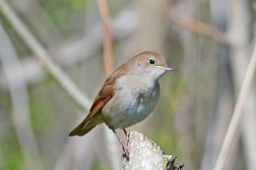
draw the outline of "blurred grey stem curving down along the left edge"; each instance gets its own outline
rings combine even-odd
[[[43,170],[38,144],[32,131],[29,94],[23,69],[12,42],[1,24],[0,61],[11,94],[12,122],[25,158],[26,169]]]

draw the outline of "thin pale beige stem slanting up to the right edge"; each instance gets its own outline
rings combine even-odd
[[[232,114],[232,118],[230,120],[230,123],[228,125],[228,129],[226,131],[226,135],[224,138],[224,143],[221,148],[220,154],[218,156],[218,160],[215,166],[215,170],[223,170],[224,169],[224,162],[228,156],[228,152],[230,149],[230,145],[233,141],[235,132],[238,129],[239,126],[239,120],[242,116],[242,107],[244,105],[244,102],[246,100],[246,97],[248,96],[250,85],[253,81],[254,74],[255,74],[255,68],[256,68],[256,43],[255,47],[252,53],[252,57],[249,62],[248,69],[246,71],[246,75],[241,87],[241,90],[239,92],[237,102],[234,107],[234,111]]]

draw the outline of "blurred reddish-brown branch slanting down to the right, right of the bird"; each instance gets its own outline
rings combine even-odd
[[[185,19],[175,14],[171,9],[168,12],[169,19],[182,28],[188,28],[198,34],[210,37],[215,41],[229,46],[230,48],[235,48],[235,44],[224,34],[224,32],[218,30],[217,28],[210,27],[204,23]]]

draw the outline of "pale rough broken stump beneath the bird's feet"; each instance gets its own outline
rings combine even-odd
[[[130,132],[128,134],[129,160],[122,158],[122,169],[167,169],[180,170],[184,165],[174,164],[176,157],[166,155],[156,142],[153,142],[143,134]]]

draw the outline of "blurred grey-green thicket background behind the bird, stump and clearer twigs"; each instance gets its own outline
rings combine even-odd
[[[83,138],[68,137],[88,110],[47,73],[31,50],[35,43],[25,43],[3,13],[5,2],[92,102],[105,79],[96,1],[0,2],[0,170],[120,169],[121,146],[103,124]],[[214,169],[253,50],[256,1],[107,0],[107,6],[114,68],[146,50],[175,68],[160,80],[154,112],[127,130],[178,155],[184,169]],[[256,167],[255,94],[254,80],[225,170]]]

